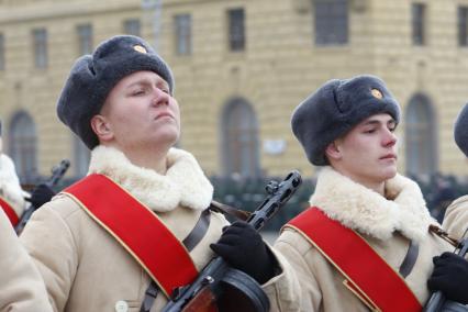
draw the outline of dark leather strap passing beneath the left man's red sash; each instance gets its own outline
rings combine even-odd
[[[189,252],[191,252],[198,245],[198,243],[200,243],[204,234],[207,234],[208,227],[210,226],[210,210],[203,210],[192,231],[190,231],[189,235],[187,235],[187,237],[182,241],[182,244]],[[143,299],[142,307],[140,308],[140,312],[149,312],[158,292],[159,288],[157,287],[156,282],[152,280],[145,291],[145,297]]]

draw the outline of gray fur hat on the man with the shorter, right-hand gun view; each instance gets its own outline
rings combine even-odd
[[[330,143],[363,120],[383,112],[400,122],[400,105],[380,78],[363,75],[333,79],[296,108],[291,126],[309,161],[325,166]]]

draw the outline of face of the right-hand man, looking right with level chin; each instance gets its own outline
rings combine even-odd
[[[332,165],[363,185],[381,183],[397,174],[395,122],[387,113],[372,115],[334,142]]]

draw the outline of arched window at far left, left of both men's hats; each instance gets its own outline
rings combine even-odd
[[[34,121],[26,112],[16,113],[9,131],[10,156],[22,182],[37,175],[37,135]]]

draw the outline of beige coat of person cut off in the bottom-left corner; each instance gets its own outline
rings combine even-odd
[[[0,209],[0,311],[52,311],[44,281]]]

